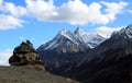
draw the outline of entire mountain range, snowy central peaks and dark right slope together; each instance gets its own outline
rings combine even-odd
[[[99,33],[63,29],[37,48],[47,71],[82,83],[131,83],[132,24],[110,38]]]

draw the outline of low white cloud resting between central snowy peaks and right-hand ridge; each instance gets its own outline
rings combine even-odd
[[[113,32],[120,31],[122,27],[107,27],[107,26],[101,26],[96,28],[95,31],[103,36],[105,38],[109,38]]]

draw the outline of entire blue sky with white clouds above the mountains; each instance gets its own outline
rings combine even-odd
[[[0,51],[30,39],[35,48],[59,31],[132,23],[131,0],[0,0]]]

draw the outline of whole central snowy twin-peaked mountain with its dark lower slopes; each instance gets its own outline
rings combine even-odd
[[[79,54],[91,50],[105,40],[97,32],[88,34],[79,27],[74,33],[63,29],[51,42],[40,46],[37,52],[48,70],[63,66],[66,71],[76,66],[76,60],[82,57]]]

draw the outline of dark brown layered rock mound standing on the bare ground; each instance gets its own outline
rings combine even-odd
[[[20,46],[14,48],[9,63],[11,66],[42,64],[36,50],[29,40],[22,42]]]

